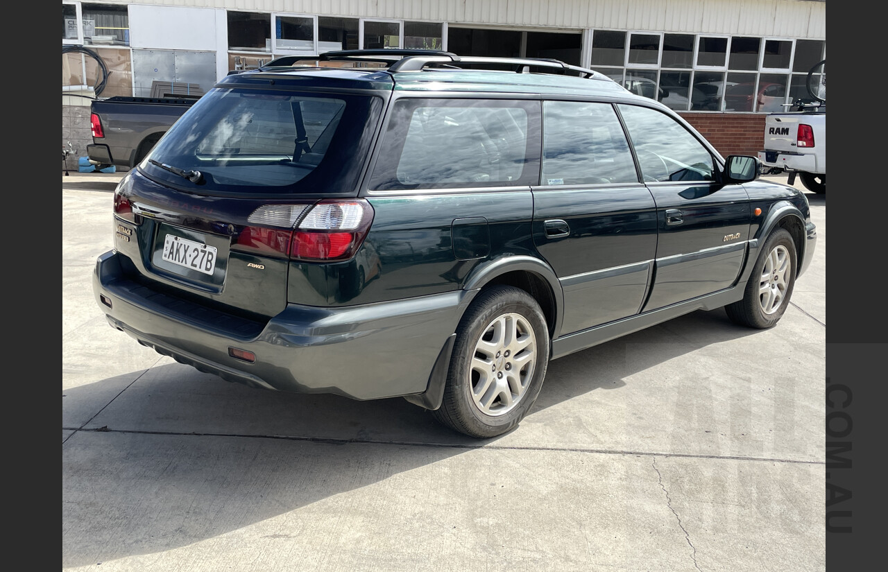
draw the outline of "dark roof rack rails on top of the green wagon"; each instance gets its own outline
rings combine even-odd
[[[260,70],[268,70],[272,67],[290,67],[297,61],[370,61],[388,64],[388,71],[394,72],[419,72],[443,70],[479,70],[493,69],[495,66],[511,67],[516,74],[530,74],[531,70],[540,70],[543,73],[557,72],[567,74],[574,72],[580,77],[604,79],[607,76],[588,69],[586,67],[572,66],[559,59],[549,58],[491,58],[485,56],[457,56],[450,51],[417,50],[417,49],[393,49],[378,50],[339,50],[327,51],[320,56],[282,56],[273,59]],[[470,67],[462,67],[468,65]],[[485,67],[488,66],[488,67]],[[505,70],[508,71],[508,70]]]

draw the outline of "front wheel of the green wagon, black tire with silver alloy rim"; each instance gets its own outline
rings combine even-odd
[[[758,329],[777,325],[789,306],[796,285],[796,243],[786,229],[775,229],[765,240],[743,298],[725,306],[735,324]]]

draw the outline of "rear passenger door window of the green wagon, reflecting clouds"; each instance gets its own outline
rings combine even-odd
[[[635,162],[614,107],[543,104],[542,184],[638,183]]]

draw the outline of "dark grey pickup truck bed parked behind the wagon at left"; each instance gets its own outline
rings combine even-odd
[[[96,168],[133,168],[198,98],[96,99],[91,103],[92,144],[86,145]]]

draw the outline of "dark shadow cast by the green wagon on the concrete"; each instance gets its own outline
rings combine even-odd
[[[696,311],[559,358],[526,421],[599,388],[619,390],[624,378],[653,364],[756,332],[733,325],[724,310]],[[630,344],[645,344],[645,358],[633,352],[627,360]],[[582,375],[573,373],[578,368]],[[69,388],[63,565],[192,545],[346,491],[408,479],[413,469],[498,441],[457,435],[400,398],[284,394],[174,363]],[[485,475],[479,486],[496,479]],[[400,490],[412,486],[428,494],[422,482]],[[69,542],[67,529],[89,529],[90,543],[82,535]]]

